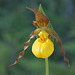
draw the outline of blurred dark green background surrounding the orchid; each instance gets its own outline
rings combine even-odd
[[[50,75],[75,75],[75,0],[0,0],[0,75],[45,75],[44,59],[36,58],[31,52],[36,38],[31,40],[24,57],[8,67],[36,29],[32,24],[35,15],[26,6],[38,9],[40,3],[62,40],[72,69],[68,70],[55,42],[55,51],[49,57]]]

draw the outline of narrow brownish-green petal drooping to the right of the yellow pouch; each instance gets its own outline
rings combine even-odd
[[[53,38],[56,39],[56,42],[57,42],[57,43],[60,45],[60,47],[61,47],[61,55],[64,56],[64,61],[68,64],[68,69],[71,70],[71,69],[70,69],[69,60],[68,60],[68,58],[65,57],[65,49],[64,49],[63,46],[62,46],[62,42],[61,42],[61,39],[59,38],[58,34],[57,34],[54,30],[52,30],[52,29],[50,29],[50,28],[45,28],[45,31],[46,31],[48,34],[50,34],[50,36],[52,36]]]

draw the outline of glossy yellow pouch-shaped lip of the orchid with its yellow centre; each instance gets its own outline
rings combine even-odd
[[[54,51],[53,42],[48,38],[48,33],[42,30],[32,46],[32,53],[38,58],[48,58]]]

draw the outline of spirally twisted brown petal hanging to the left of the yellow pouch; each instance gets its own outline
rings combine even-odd
[[[38,35],[41,30],[42,30],[41,28],[38,28],[38,29],[36,29],[35,31],[33,31],[33,32],[30,34],[29,40],[24,43],[24,50],[19,53],[19,57],[18,57],[18,58],[15,60],[15,62],[14,62],[13,64],[11,64],[9,67],[11,67],[11,66],[13,66],[13,65],[15,65],[15,64],[18,63],[19,59],[23,57],[23,55],[24,55],[24,53],[25,53],[25,50],[28,48],[28,46],[29,46],[29,44],[30,44],[30,40],[31,40],[32,38],[34,38],[36,35]]]

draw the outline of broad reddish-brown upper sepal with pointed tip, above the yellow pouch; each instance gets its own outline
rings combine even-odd
[[[48,26],[49,20],[48,20],[47,16],[45,16],[44,14],[42,14],[37,9],[32,9],[32,8],[28,8],[28,9],[32,10],[35,13],[36,21],[33,21],[33,24],[35,26],[37,26],[37,27],[47,27]]]

